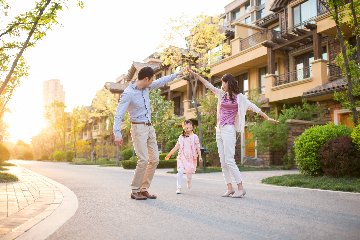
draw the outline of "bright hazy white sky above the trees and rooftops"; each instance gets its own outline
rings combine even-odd
[[[15,2],[15,1],[14,1]],[[21,11],[34,1],[16,0]],[[75,2],[75,1],[74,1]],[[44,40],[25,53],[30,74],[9,102],[9,141],[28,143],[46,125],[43,81],[60,79],[67,111],[88,106],[105,82],[127,73],[133,61],[143,61],[164,43],[170,19],[200,14],[218,15],[231,0],[84,0],[59,16]]]

